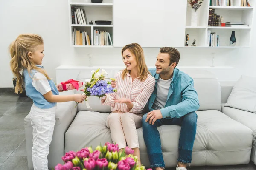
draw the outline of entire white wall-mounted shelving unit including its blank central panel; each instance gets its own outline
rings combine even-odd
[[[176,48],[248,48],[250,47],[250,41],[252,40],[251,31],[253,25],[253,13],[255,11],[256,0],[249,0],[251,6],[241,6],[241,0],[229,0],[233,2],[233,6],[212,6],[210,4],[214,0],[204,0],[200,8],[198,9],[198,24],[197,26],[191,26],[191,8],[187,2],[179,3],[178,11],[169,10],[168,14],[164,13],[167,18],[163,18],[163,14],[157,11],[164,4],[164,0],[156,4],[152,3],[153,0],[146,1],[142,0],[138,2],[136,0],[125,0],[125,1],[114,1],[114,0],[103,0],[102,3],[91,3],[91,0],[69,0],[69,23],[70,23],[70,45],[74,48],[113,48],[122,47],[131,42],[138,42],[142,47],[162,47],[162,46],[173,46]],[[219,0],[225,1],[225,0]],[[152,11],[151,13],[141,13],[141,6],[148,3],[147,8],[144,10]],[[137,6],[134,6],[137,4]],[[85,11],[87,18],[86,24],[73,24],[71,7],[80,8]],[[131,13],[131,8],[134,12]],[[209,20],[209,9],[214,9],[214,13],[224,18],[226,22],[244,22],[244,26],[236,27],[221,27],[221,26],[208,26]],[[137,12],[136,12],[137,11]],[[184,11],[184,12],[182,12]],[[180,23],[168,25],[169,16],[179,13],[178,17],[172,18],[172,23]],[[183,16],[184,14],[184,16]],[[93,21],[90,25],[89,22]],[[109,20],[112,21],[111,25],[96,25],[95,20]],[[143,21],[143,22],[141,22]],[[184,21],[184,22],[182,22]],[[152,23],[153,22],[153,23]],[[184,25],[183,25],[184,24]],[[125,27],[124,27],[125,25]],[[185,28],[184,28],[185,26]],[[163,27],[163,28],[162,28]],[[147,28],[147,29],[145,29]],[[157,31],[170,28],[169,31]],[[91,45],[76,45],[73,44],[73,30],[86,31],[90,38]],[[110,41],[108,45],[95,45],[94,30],[107,31],[110,34],[112,45]],[[142,31],[143,30],[143,31]],[[208,31],[215,33],[219,36],[218,46],[209,46],[208,43]],[[232,31],[235,31],[236,45],[230,46],[229,40]],[[124,34],[129,32],[129,34]],[[154,34],[154,38],[151,35]],[[186,34],[189,34],[189,46],[185,46]],[[116,35],[116,36],[114,36]],[[164,37],[164,38],[163,38]],[[172,37],[172,38],[170,38]],[[196,46],[191,46],[196,40]]]

